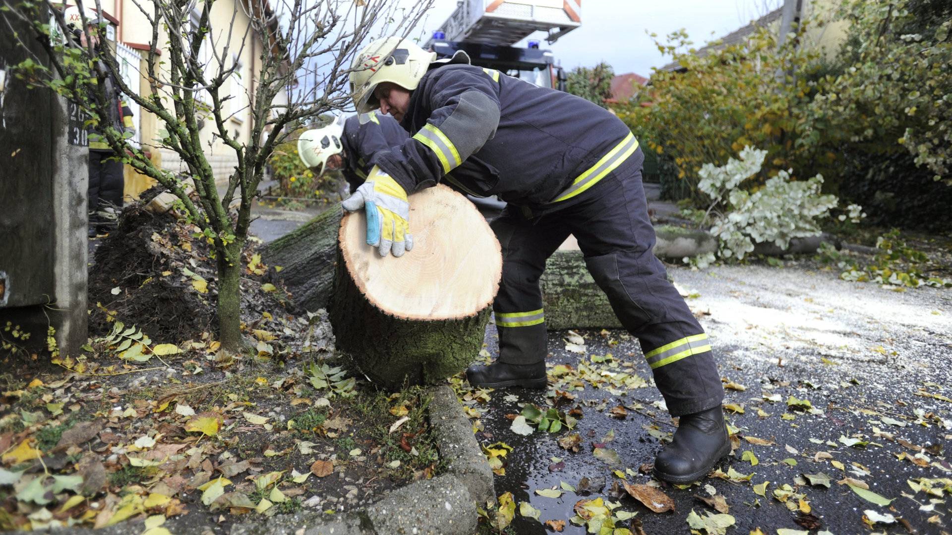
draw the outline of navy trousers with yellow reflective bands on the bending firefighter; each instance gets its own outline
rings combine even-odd
[[[615,315],[641,343],[668,411],[682,416],[720,406],[724,388],[704,329],[651,252],[655,233],[642,187],[643,160],[639,149],[571,206],[527,217],[509,205],[492,221],[503,248],[503,279],[493,303],[499,360],[527,365],[545,359],[539,278],[545,260],[574,234]]]

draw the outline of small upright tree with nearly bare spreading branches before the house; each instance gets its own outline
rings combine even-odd
[[[96,12],[102,12],[99,0],[94,1]],[[98,124],[114,155],[174,193],[190,221],[201,228],[217,263],[219,339],[223,347],[237,349],[243,346],[240,257],[252,202],[273,149],[309,118],[346,109],[355,53],[373,38],[406,36],[432,0],[407,8],[391,0],[281,0],[274,8],[268,0],[233,0],[225,27],[215,27],[211,17],[213,7],[225,0],[133,2],[151,26],[144,73],[149,88],[140,93],[123,82],[109,47],[94,45],[107,42],[106,28],[88,24],[82,0],[77,1],[82,28],[70,28],[50,0],[3,0],[3,16],[29,20],[34,35],[19,35],[20,42],[39,39],[47,52],[47,57],[18,66],[20,75],[76,102]],[[239,24],[246,19],[247,25]],[[6,26],[10,30],[9,22]],[[232,79],[240,76],[236,58],[249,46],[259,65],[250,83],[241,84],[245,94],[236,94],[229,90]],[[113,86],[163,125],[161,139],[143,140],[143,147],[175,151],[188,176],[155,166],[143,149],[129,144],[128,135],[108,124]],[[239,112],[250,119],[248,141],[228,131],[229,117]],[[211,137],[237,156],[221,195],[203,147],[203,129],[211,129]],[[188,194],[191,187],[195,201]]]

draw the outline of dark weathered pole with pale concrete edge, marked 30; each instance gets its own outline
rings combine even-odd
[[[87,338],[86,132],[64,99],[12,76],[46,52],[17,39],[29,25],[6,23],[15,28],[0,32],[0,328],[30,332],[33,353],[53,327],[61,354],[75,356]]]

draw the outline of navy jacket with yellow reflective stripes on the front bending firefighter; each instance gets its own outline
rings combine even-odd
[[[533,212],[573,204],[638,148],[608,110],[459,52],[426,72],[401,126],[413,137],[374,163],[407,192],[446,182]]]

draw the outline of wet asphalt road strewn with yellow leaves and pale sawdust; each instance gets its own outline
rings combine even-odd
[[[565,521],[563,533],[575,534],[586,531],[569,521],[574,505],[597,497],[618,502],[616,512],[637,512],[635,519],[648,535],[686,533],[692,509],[702,516],[704,510],[715,512],[695,497],[710,498],[713,489],[724,496],[735,518],[728,534],[746,535],[758,527],[767,534],[781,528],[869,533],[865,510],[892,515],[892,524],[873,525],[876,532],[952,530],[952,466],[947,461],[952,442],[952,292],[896,292],[849,283],[806,262],[786,268],[674,268],[671,274],[684,293],[698,294],[688,303],[712,339],[725,385],[732,386],[726,389],[724,403],[732,406],[725,414],[739,445],[720,467],[724,474],[733,468],[752,475],[750,481],[708,477],[683,489],[662,485],[676,506],[666,513],[651,512],[627,496],[622,483],[657,485],[639,468],[653,462],[660,440],[674,426],[650,384],[637,341],[619,330],[580,330],[585,337],[581,355],[565,350],[565,332],[550,333],[547,392],[500,389],[488,393],[487,403],[469,404],[483,412],[479,422],[484,429],[477,434],[481,443],[512,447],[503,459],[505,475],[496,476],[497,494],[511,492],[517,505],[528,502],[540,509],[540,521]],[[492,355],[497,354],[496,342],[490,326],[486,349]],[[609,353],[612,357],[605,359]],[[571,366],[567,372],[558,367],[565,364]],[[526,437],[510,430],[521,406],[531,403],[545,410],[559,397],[556,388],[575,396],[560,410],[582,410],[573,430],[536,429]],[[794,402],[808,400],[812,411],[788,406],[790,396]],[[615,417],[610,414],[617,406],[625,407],[624,419],[619,409]],[[605,440],[609,430],[614,434],[610,442]],[[558,443],[573,432],[582,438],[578,452]],[[760,446],[764,442],[768,444]],[[594,445],[617,452],[618,466],[596,459]],[[753,452],[756,466],[749,457],[742,460],[745,451]],[[829,476],[829,487],[803,479],[803,474],[821,473]],[[535,493],[564,489],[563,482],[578,487],[583,477],[603,478],[605,485],[587,494],[564,490],[558,498]],[[864,500],[837,483],[847,477],[893,501],[876,505]],[[921,478],[932,480],[931,493],[922,488]],[[764,482],[769,485],[761,496],[754,485]],[[782,485],[790,485],[789,492]],[[516,510],[512,532],[552,532]]]

